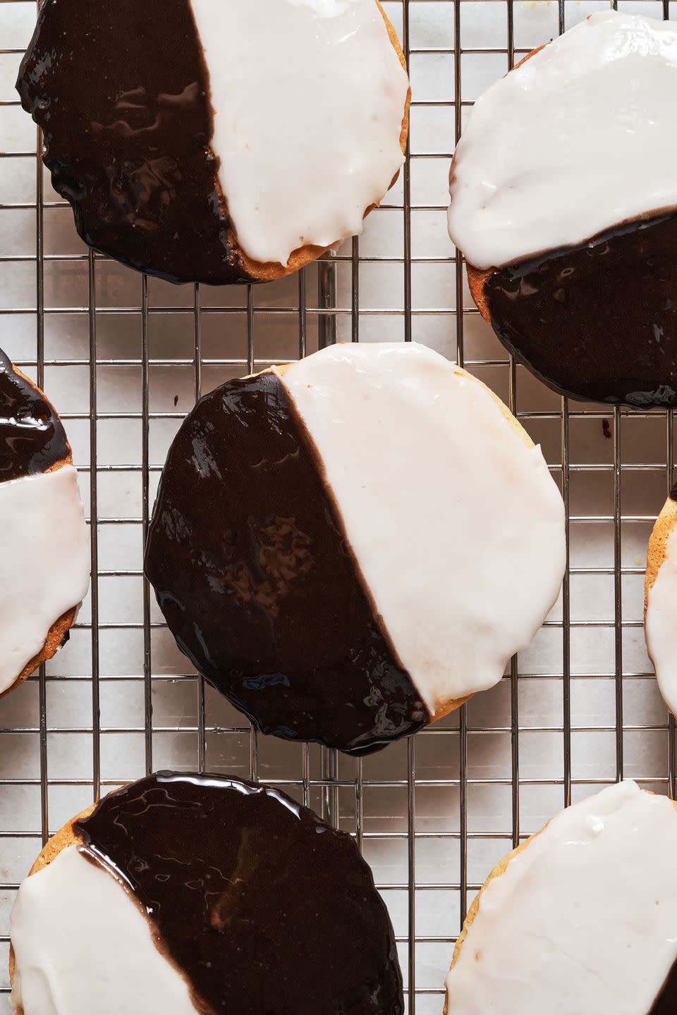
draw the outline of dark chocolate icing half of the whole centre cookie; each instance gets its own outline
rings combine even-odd
[[[170,451],[145,570],[179,647],[260,730],[365,753],[429,716],[320,470],[277,375],[216,389]]]

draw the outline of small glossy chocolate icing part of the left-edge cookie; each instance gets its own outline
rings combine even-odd
[[[56,412],[0,349],[0,482],[48,472],[69,454]]]

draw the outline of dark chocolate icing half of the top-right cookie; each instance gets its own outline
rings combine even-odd
[[[677,404],[677,214],[500,268],[484,291],[498,338],[550,387]]]

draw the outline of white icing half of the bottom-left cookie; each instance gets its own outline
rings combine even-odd
[[[23,1015],[195,1015],[137,902],[75,845],[22,882],[11,942]]]

